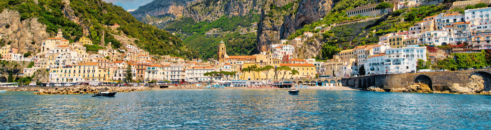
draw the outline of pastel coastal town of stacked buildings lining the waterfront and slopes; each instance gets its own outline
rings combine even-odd
[[[89,52],[83,45],[92,45],[90,39],[80,38],[76,43],[69,43],[63,38],[61,29],[54,38],[42,42],[41,51],[31,57],[24,57],[17,52],[18,48],[8,44],[1,47],[0,54],[2,60],[33,61],[34,65],[24,68],[23,74],[30,76],[39,69],[47,69],[52,83],[125,82],[128,67],[132,82],[138,83],[350,77],[360,75],[362,65],[365,74],[414,73],[418,60],[434,63],[451,53],[491,49],[490,9],[468,9],[464,14],[441,13],[426,17],[409,30],[383,35],[379,43],[373,45],[342,50],[326,61],[292,58],[303,40],[314,35],[311,32],[304,32],[293,40],[280,40],[279,44],[271,44],[268,51],[251,56],[229,56],[226,43],[221,41],[217,46],[218,58],[208,61],[150,55],[130,44]],[[465,46],[448,51],[439,49],[437,46],[440,45]],[[288,69],[278,70],[281,66]],[[220,71],[232,73],[205,74]]]

